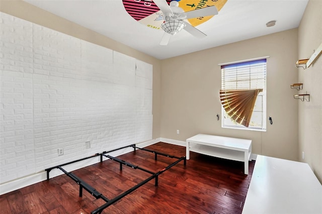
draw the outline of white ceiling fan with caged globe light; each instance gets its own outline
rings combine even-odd
[[[218,14],[215,6],[185,12],[179,7],[179,3],[176,0],[170,2],[170,6],[166,0],[153,0],[153,2],[162,11],[164,19],[164,23],[161,25],[161,28],[165,31],[165,33],[162,37],[160,45],[168,45],[170,38],[179,33],[182,29],[197,38],[206,37],[206,34],[202,33],[184,20]]]

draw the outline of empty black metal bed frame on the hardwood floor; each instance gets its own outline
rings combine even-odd
[[[132,147],[134,149],[134,151],[136,151],[138,149],[138,150],[144,150],[144,151],[147,151],[147,152],[154,153],[154,160],[157,160],[157,155],[162,155],[162,156],[166,156],[166,157],[169,157],[169,158],[176,158],[178,160],[173,162],[172,164],[170,164],[169,166],[167,166],[166,168],[164,168],[164,169],[162,169],[162,170],[160,170],[158,172],[152,172],[150,170],[144,169],[144,168],[142,168],[140,166],[137,166],[137,165],[133,165],[131,163],[128,163],[126,161],[123,161],[121,159],[118,159],[116,157],[113,157],[113,156],[107,154],[107,153],[111,153],[111,152],[114,152],[114,151],[117,151],[117,150],[120,150],[120,149],[124,149],[124,148],[127,148],[127,147]],[[72,164],[72,163],[75,163],[75,162],[78,162],[78,161],[86,160],[86,159],[89,159],[89,158],[97,157],[97,156],[100,156],[100,158],[101,158],[100,162],[101,163],[103,162],[103,156],[104,156],[104,157],[107,157],[107,158],[109,158],[109,159],[111,159],[113,161],[116,161],[116,162],[120,163],[120,170],[122,170],[122,166],[125,165],[125,166],[131,167],[133,169],[139,169],[139,170],[142,170],[144,172],[147,172],[147,173],[151,174],[151,176],[146,178],[145,180],[141,181],[140,183],[136,184],[132,188],[126,190],[125,192],[119,194],[118,196],[116,196],[116,197],[114,197],[112,199],[109,199],[109,198],[105,197],[102,193],[98,192],[94,187],[92,187],[91,185],[86,183],[84,180],[82,180],[81,178],[77,177],[74,173],[67,172],[66,170],[64,170],[62,168],[62,166]],[[85,189],[90,194],[92,194],[96,199],[101,198],[102,200],[104,200],[106,202],[105,204],[103,204],[102,206],[100,206],[100,207],[96,208],[95,210],[91,211],[92,214],[96,214],[96,213],[102,213],[102,211],[105,208],[107,208],[108,206],[112,205],[116,201],[120,200],[124,196],[130,194],[131,192],[133,192],[134,190],[136,190],[137,188],[139,188],[140,186],[144,185],[145,183],[149,182],[150,180],[152,180],[154,178],[155,178],[155,186],[157,186],[158,185],[158,176],[160,174],[162,174],[163,172],[167,171],[168,169],[170,169],[171,167],[173,167],[174,165],[176,165],[177,163],[179,163],[182,160],[184,161],[184,165],[186,166],[186,156],[176,157],[176,156],[173,156],[173,155],[168,155],[168,154],[165,154],[165,153],[156,152],[156,151],[149,150],[149,149],[139,148],[139,147],[136,147],[135,144],[132,144],[132,145],[121,147],[121,148],[114,149],[114,150],[111,150],[111,151],[107,151],[107,152],[104,151],[102,153],[97,153],[97,154],[92,155],[90,157],[86,157],[86,158],[74,160],[74,161],[71,161],[71,162],[68,162],[68,163],[64,163],[64,164],[61,164],[61,165],[57,165],[57,166],[54,166],[54,167],[50,167],[50,168],[45,169],[45,171],[47,172],[47,180],[49,180],[49,172],[52,169],[60,169],[68,177],[70,177],[72,180],[74,180],[79,185],[79,197],[83,196],[83,189]]]

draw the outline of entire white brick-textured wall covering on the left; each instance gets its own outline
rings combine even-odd
[[[0,17],[0,184],[152,138],[152,65]]]

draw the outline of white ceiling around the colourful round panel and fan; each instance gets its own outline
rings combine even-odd
[[[208,0],[210,1],[210,0]],[[220,0],[219,0],[220,1]],[[162,30],[135,21],[122,0],[25,0],[157,59],[166,59],[232,42],[297,28],[308,0],[227,0],[218,15],[197,28],[198,39],[181,31],[160,46]],[[276,20],[274,27],[266,23]]]

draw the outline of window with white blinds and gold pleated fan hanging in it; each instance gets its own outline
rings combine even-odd
[[[221,65],[220,97],[222,127],[266,131],[266,58]]]

